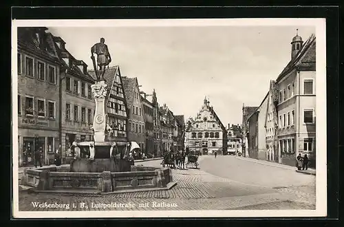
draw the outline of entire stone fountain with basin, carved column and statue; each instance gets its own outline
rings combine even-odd
[[[93,129],[94,141],[74,143],[73,147],[87,151],[88,158],[80,158],[80,153],[70,166],[45,166],[26,169],[21,184],[40,192],[62,193],[122,193],[128,191],[168,190],[176,183],[172,180],[171,169],[135,166],[129,162],[128,142],[109,141],[107,136],[107,93],[109,87],[103,78],[105,65],[111,57],[104,39],[91,49],[92,61],[97,81],[92,85],[96,102]],[[98,55],[97,70],[93,54]],[[101,56],[101,57],[100,57]],[[103,58],[103,56],[105,58]]]

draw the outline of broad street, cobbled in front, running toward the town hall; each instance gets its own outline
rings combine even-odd
[[[161,160],[153,160],[138,162],[137,164],[160,166],[160,162]],[[256,164],[234,156],[218,156],[217,159],[213,156],[201,156],[200,169],[173,169],[172,173],[173,181],[177,182],[177,185],[169,191],[107,195],[85,195],[82,193],[36,194],[19,191],[19,210],[240,210],[241,208],[259,210],[315,208],[314,175],[305,175],[289,169]],[[35,207],[35,203],[45,202],[47,204],[67,204],[68,208],[67,206],[64,208]]]

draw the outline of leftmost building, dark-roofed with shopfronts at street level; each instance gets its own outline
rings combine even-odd
[[[42,164],[54,161],[59,138],[59,58],[47,28],[18,28],[19,166],[34,164],[34,151],[43,149]],[[15,98],[14,98],[15,100]]]

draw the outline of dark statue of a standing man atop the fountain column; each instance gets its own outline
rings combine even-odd
[[[99,66],[99,70],[97,71],[96,61],[94,59],[94,53],[97,54],[97,64]],[[109,53],[109,49],[105,44],[105,39],[101,38],[100,43],[96,43],[91,47],[91,58],[93,61],[94,72],[96,73],[97,80],[104,80],[105,74],[105,66],[111,63],[111,56]]]

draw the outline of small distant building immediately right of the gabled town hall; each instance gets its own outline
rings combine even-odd
[[[242,154],[241,127],[239,125],[230,126],[227,129],[227,155]]]

